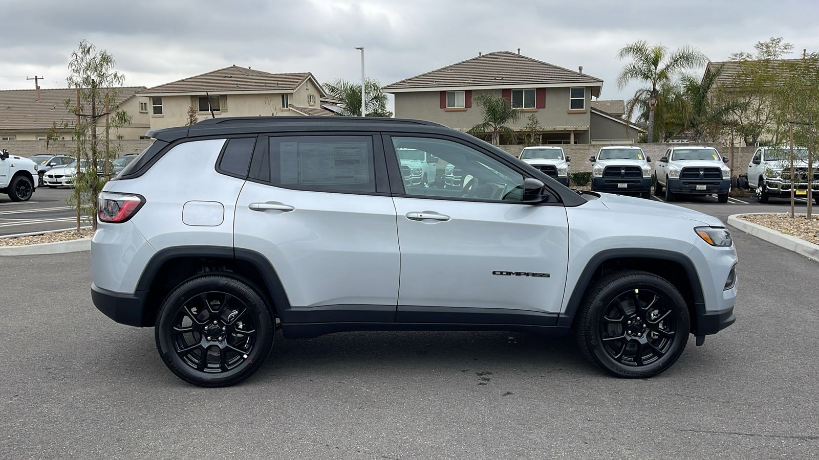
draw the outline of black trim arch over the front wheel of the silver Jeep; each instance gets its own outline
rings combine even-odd
[[[662,262],[662,264],[657,264]],[[676,287],[686,300],[691,318],[691,332],[696,333],[697,318],[705,312],[703,286],[694,262],[672,250],[618,248],[603,250],[589,259],[569,296],[566,311],[560,314],[559,326],[574,327],[577,309],[591,283],[613,271],[636,269],[663,277]]]

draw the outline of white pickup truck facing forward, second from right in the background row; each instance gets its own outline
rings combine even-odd
[[[728,202],[731,192],[731,169],[713,147],[671,147],[654,164],[654,195],[675,201],[678,195],[717,195],[720,203]]]

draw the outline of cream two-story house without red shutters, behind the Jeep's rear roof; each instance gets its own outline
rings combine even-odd
[[[231,65],[139,92],[147,97],[151,129],[183,126],[221,116],[333,115],[310,72],[270,74]]]

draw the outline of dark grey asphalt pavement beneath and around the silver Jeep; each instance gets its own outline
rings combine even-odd
[[[788,209],[709,200],[678,204]],[[733,234],[737,322],[647,380],[569,338],[356,332],[279,334],[256,375],[202,389],[93,307],[88,252],[0,257],[0,458],[816,458],[819,266]]]

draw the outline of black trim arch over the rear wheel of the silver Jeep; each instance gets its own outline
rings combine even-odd
[[[272,315],[290,307],[281,280],[264,255],[222,246],[179,246],[156,252],[145,266],[137,291],[146,293],[144,326],[153,326],[165,296],[190,277],[201,273],[233,273],[250,282],[269,304]]]

